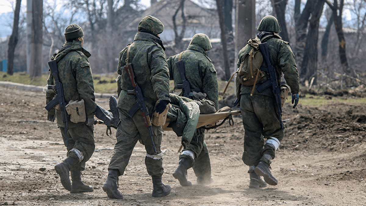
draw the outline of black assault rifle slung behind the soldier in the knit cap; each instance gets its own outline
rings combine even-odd
[[[64,88],[62,86],[62,83],[59,81],[59,71],[57,70],[56,60],[52,60],[52,61],[48,62],[48,66],[51,69],[53,79],[55,80],[55,85],[48,85],[48,89],[54,89],[56,91],[55,92],[56,96],[55,96],[55,98],[52,99],[51,102],[49,102],[45,106],[45,108],[46,108],[47,111],[49,111],[49,110],[51,110],[51,108],[53,108],[57,104],[60,105],[61,117],[62,117],[62,121],[64,122],[66,147],[68,147],[69,146],[68,137],[67,137],[67,130],[68,130],[67,118],[68,118],[68,114],[67,114],[67,111],[66,111]]]

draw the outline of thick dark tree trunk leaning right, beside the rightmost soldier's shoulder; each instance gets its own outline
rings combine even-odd
[[[309,32],[306,36],[305,53],[301,64],[300,77],[302,81],[315,77],[314,83],[317,81],[317,62],[318,62],[318,36],[319,21],[323,11],[325,0],[315,0],[312,4],[311,18],[309,21]]]

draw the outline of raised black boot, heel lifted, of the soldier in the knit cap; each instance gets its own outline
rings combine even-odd
[[[71,191],[71,181],[70,181],[70,169],[79,163],[79,159],[73,158],[73,157],[67,157],[63,162],[59,163],[55,166],[55,170],[57,174],[60,176],[61,184],[62,186],[68,190]]]

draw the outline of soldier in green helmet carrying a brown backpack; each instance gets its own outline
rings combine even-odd
[[[276,70],[278,85],[280,84],[282,73],[286,83],[292,91],[292,103],[294,107],[299,101],[299,74],[296,67],[294,54],[288,42],[283,41],[277,34],[281,32],[280,23],[274,16],[265,16],[259,23],[260,32],[257,37],[262,43],[268,44],[269,60]],[[249,53],[251,47],[247,44],[239,51],[238,67],[242,63],[242,57]],[[266,66],[263,60],[262,67]],[[276,111],[276,103],[272,92],[272,87],[258,91],[262,83],[268,79],[268,74],[255,85],[253,96],[251,96],[253,86],[244,86],[236,82],[240,88],[240,110],[243,117],[244,126],[244,152],[242,160],[249,166],[250,188],[266,187],[266,183],[277,185],[277,180],[270,172],[271,159],[275,158],[275,151],[280,146],[284,137],[281,129],[279,115]],[[260,89],[259,89],[260,90]],[[266,142],[264,142],[264,136]],[[265,182],[260,178],[264,177]]]

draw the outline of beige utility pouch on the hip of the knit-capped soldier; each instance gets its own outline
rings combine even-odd
[[[76,100],[70,102],[66,105],[67,114],[70,115],[70,121],[74,123],[85,122],[86,121],[86,113],[85,113],[85,104],[84,100]]]

